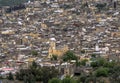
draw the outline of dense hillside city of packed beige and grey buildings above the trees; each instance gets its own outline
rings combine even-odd
[[[99,11],[96,5],[101,3],[107,4]],[[25,5],[11,13],[0,8],[2,70],[17,70],[33,60],[42,66],[58,65],[49,58],[68,50],[80,59],[96,54],[119,60],[119,0],[34,0]],[[38,56],[32,56],[32,51]]]

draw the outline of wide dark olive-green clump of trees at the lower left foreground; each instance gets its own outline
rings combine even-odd
[[[55,67],[40,67],[33,62],[28,69],[20,69],[20,71],[16,73],[16,79],[24,81],[24,83],[35,83],[36,81],[48,83],[50,79],[58,75],[59,71]]]

